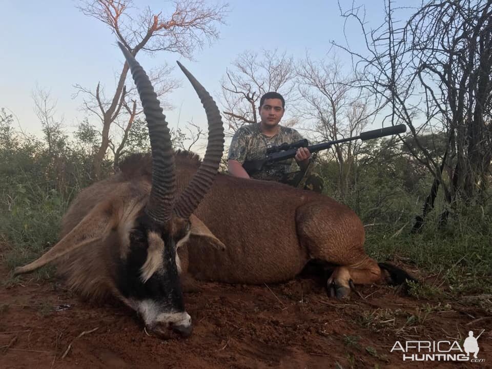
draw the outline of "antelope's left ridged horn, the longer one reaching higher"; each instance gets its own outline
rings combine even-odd
[[[166,116],[162,114],[162,108],[159,106],[159,100],[149,77],[125,46],[119,42],[118,45],[130,66],[149,128],[152,148],[152,190],[145,213],[157,224],[164,224],[171,219],[176,190],[171,135]]]

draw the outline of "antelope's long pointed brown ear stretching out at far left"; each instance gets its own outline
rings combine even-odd
[[[73,250],[101,240],[110,231],[108,226],[111,225],[111,217],[111,204],[103,203],[96,206],[43,256],[24,267],[15,268],[14,275],[32,272]]]

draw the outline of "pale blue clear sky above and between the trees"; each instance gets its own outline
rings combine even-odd
[[[81,97],[73,98],[74,85],[95,90],[100,81],[108,92],[114,91],[124,57],[110,29],[81,13],[77,3],[0,0],[0,108],[14,114],[16,128],[40,135],[41,125],[32,98],[36,86],[49,91],[56,101],[55,118],[63,119],[67,133],[73,132],[85,117],[98,125],[96,117],[81,109]],[[327,58],[333,53],[332,40],[345,42],[344,19],[335,0],[232,0],[228,3],[226,24],[218,25],[220,38],[210,46],[197,49],[194,60],[169,52],[159,52],[154,57],[139,53],[137,60],[144,69],[165,61],[175,65],[175,60],[180,60],[217,100],[221,95],[221,77],[245,50],[277,49],[294,58],[302,58],[308,52],[313,58]],[[352,1],[341,3],[348,6]],[[381,22],[382,0],[359,0],[357,4],[365,5],[370,22],[375,25]],[[166,12],[172,10],[173,3],[135,0],[134,6]],[[348,27],[346,34],[351,46],[361,44],[359,27]],[[337,52],[337,56],[350,63],[343,54]],[[182,88],[168,96],[174,106],[173,110],[165,111],[170,127],[183,126],[191,120],[201,125],[205,115],[194,90],[179,68],[174,69],[172,77],[181,80]]]

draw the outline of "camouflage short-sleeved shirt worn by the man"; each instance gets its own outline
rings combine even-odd
[[[278,133],[273,137],[265,136],[260,131],[260,125],[252,124],[242,126],[232,137],[229,148],[228,160],[236,160],[241,164],[244,161],[262,159],[267,153],[267,148],[278,146],[287,142],[293,142],[302,139],[302,136],[295,129],[278,126]],[[264,166],[260,172],[256,172],[251,177],[263,180],[280,180],[285,174],[299,171],[299,166],[294,158],[277,161],[269,166]]]

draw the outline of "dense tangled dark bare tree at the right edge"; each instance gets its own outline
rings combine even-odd
[[[408,9],[403,9],[405,16]],[[404,122],[416,145],[405,145],[435,177],[414,230],[423,226],[439,187],[453,208],[470,203],[487,188],[492,159],[492,1],[429,1],[406,22],[401,8],[385,2],[385,23],[365,29],[362,8],[342,11],[355,19],[368,55],[349,52],[359,85],[388,108],[392,124]],[[443,133],[447,147],[438,160],[421,144],[422,135]],[[447,178],[445,177],[447,174]],[[444,212],[445,220],[448,212]]]

